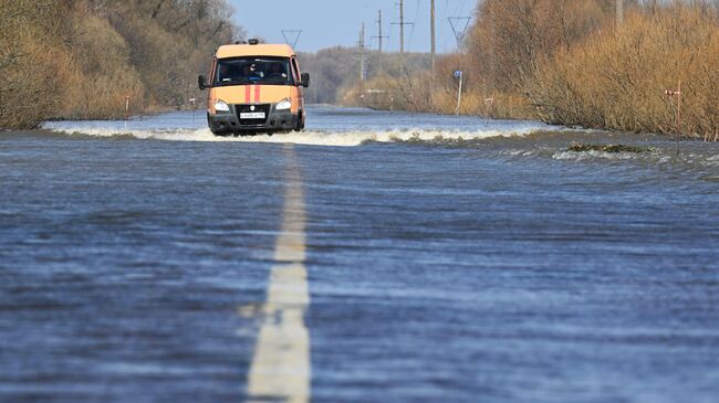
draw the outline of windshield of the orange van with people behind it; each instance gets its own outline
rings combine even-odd
[[[217,61],[213,85],[294,85],[288,57],[236,57]]]

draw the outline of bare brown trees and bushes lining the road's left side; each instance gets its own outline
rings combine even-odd
[[[187,104],[219,44],[243,35],[225,0],[0,2],[0,127]]]

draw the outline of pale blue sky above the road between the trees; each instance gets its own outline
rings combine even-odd
[[[228,0],[235,20],[248,33],[270,43],[284,43],[282,30],[302,30],[300,52],[316,52],[332,46],[355,46],[359,28],[366,24],[365,43],[377,49],[377,11],[382,9],[385,51],[399,50],[399,0]],[[429,0],[405,0],[405,51],[429,52]],[[451,52],[457,41],[448,17],[471,17],[477,0],[436,0],[437,51]],[[285,11],[281,11],[285,10]],[[459,21],[456,21],[458,23]],[[460,29],[463,22],[459,23]],[[291,36],[291,35],[289,35]],[[292,40],[293,38],[291,38]]]

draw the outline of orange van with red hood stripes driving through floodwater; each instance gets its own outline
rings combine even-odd
[[[215,135],[282,132],[304,128],[304,88],[310,75],[301,73],[289,45],[249,43],[217,49],[209,81],[207,123]]]

